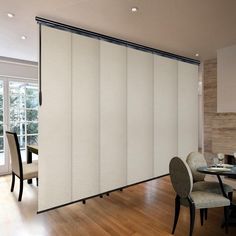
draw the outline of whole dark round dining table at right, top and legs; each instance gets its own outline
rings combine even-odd
[[[220,185],[221,192],[224,197],[229,198],[226,194],[223,186],[222,176],[236,177],[236,165],[230,164],[219,164],[213,166],[199,167],[198,172],[208,175],[214,175],[217,177]],[[236,226],[236,203],[233,200],[230,202],[230,213],[229,213],[229,226]],[[224,224],[223,224],[224,225]]]

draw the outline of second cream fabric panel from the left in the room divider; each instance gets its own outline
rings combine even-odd
[[[72,199],[99,193],[99,40],[72,35]]]

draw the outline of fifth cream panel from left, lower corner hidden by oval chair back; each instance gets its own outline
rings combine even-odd
[[[155,176],[178,155],[178,62],[155,55]]]

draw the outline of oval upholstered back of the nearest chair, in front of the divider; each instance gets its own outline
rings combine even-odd
[[[171,159],[169,164],[170,178],[175,192],[186,198],[192,192],[193,178],[188,165],[179,157]]]

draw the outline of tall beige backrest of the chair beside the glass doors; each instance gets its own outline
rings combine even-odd
[[[6,132],[6,135],[10,150],[12,171],[16,175],[20,176],[21,174],[20,168],[22,168],[22,163],[21,163],[20,148],[17,135],[15,133],[8,131]]]

